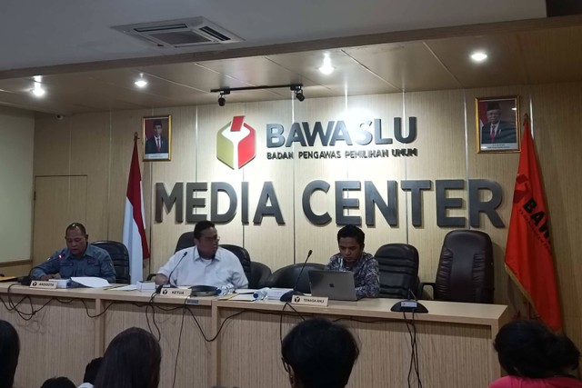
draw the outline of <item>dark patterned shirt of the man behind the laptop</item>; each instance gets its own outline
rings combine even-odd
[[[376,298],[380,293],[380,273],[378,262],[372,254],[362,253],[362,257],[352,268],[347,268],[341,254],[334,254],[330,257],[326,270],[330,271],[351,271],[354,273],[354,283],[356,284],[356,296],[360,298]]]

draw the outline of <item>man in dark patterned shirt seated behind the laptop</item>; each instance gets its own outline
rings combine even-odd
[[[366,234],[355,225],[346,225],[337,232],[339,253],[329,259],[326,269],[354,273],[356,296],[375,298],[380,293],[378,262],[372,254],[364,252]]]

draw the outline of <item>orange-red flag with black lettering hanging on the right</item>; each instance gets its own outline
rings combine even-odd
[[[519,156],[506,248],[506,271],[541,320],[557,331],[562,316],[552,257],[548,214],[529,117]]]

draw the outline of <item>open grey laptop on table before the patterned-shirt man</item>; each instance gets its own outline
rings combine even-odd
[[[356,301],[354,273],[342,271],[309,271],[313,296],[327,296],[336,301]]]

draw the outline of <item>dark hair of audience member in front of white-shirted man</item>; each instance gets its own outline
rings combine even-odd
[[[156,338],[131,327],[115,335],[107,346],[95,388],[156,388],[162,351]]]

